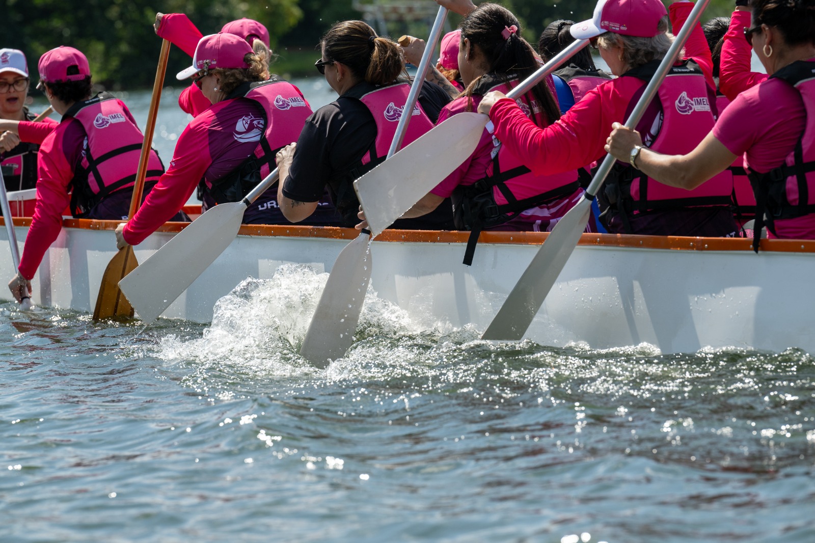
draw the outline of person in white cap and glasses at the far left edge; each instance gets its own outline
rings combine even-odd
[[[37,184],[37,151],[56,126],[45,118],[33,124],[36,113],[25,105],[31,78],[23,51],[0,49],[0,166],[7,191]]]

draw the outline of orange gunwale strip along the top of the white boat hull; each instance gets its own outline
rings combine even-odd
[[[0,217],[2,221],[2,217]],[[15,226],[27,227],[28,217],[14,218]],[[63,219],[66,228],[81,230],[115,230],[121,221],[100,221],[94,219]],[[3,223],[5,224],[5,223]],[[181,232],[190,223],[164,223],[158,232]],[[244,224],[238,232],[240,236],[264,237],[317,237],[337,240],[352,240],[359,235],[354,228],[307,227]],[[376,241],[396,241],[410,243],[458,243],[465,244],[469,232],[448,232],[436,230],[385,230]],[[480,243],[541,245],[548,232],[481,232]],[[680,236],[631,236],[627,234],[583,234],[578,245],[601,247],[632,247],[641,249],[674,249],[695,251],[750,251],[752,240],[732,237],[680,237]],[[760,249],[780,253],[815,253],[815,240],[761,240]]]

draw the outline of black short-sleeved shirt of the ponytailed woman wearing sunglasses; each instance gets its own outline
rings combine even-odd
[[[370,83],[359,83],[306,119],[306,126],[297,139],[289,176],[284,180],[284,196],[296,201],[318,201],[328,186],[343,217],[343,225],[353,226],[359,222],[356,219],[359,200],[350,185],[357,176],[352,171],[362,165],[363,156],[377,139],[377,123],[365,104],[348,95],[359,96],[376,88]],[[448,102],[450,97],[440,86],[424,83],[419,103],[430,121],[438,120],[438,114]],[[394,227],[450,229],[452,205],[443,202],[433,213],[419,219],[399,219]]]

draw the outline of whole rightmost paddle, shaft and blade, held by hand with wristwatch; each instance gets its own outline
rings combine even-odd
[[[672,46],[668,49],[663,61],[659,64],[659,69],[651,78],[648,86],[645,87],[641,98],[637,102],[625,126],[635,128],[640,121],[645,108],[654,99],[659,85],[663,82],[668,70],[679,55],[691,30],[698,23],[702,16],[702,11],[707,7],[710,0],[699,0],[690,12],[688,20],[682,27],[680,33],[674,39]],[[606,155],[597,174],[594,175],[592,183],[588,185],[586,193],[577,205],[569,210],[566,215],[557,222],[552,232],[549,233],[544,245],[538,249],[535,258],[526,267],[521,279],[509,293],[496,316],[482,335],[482,339],[521,339],[526,329],[535,318],[540,306],[549,290],[552,289],[557,276],[566,265],[575,245],[583,234],[588,217],[592,208],[592,201],[597,191],[600,189],[611,167],[614,166],[615,157]]]

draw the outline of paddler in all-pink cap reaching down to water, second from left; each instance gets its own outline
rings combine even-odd
[[[20,269],[9,283],[18,302],[59,235],[66,208],[74,218],[126,219],[144,139],[121,100],[106,93],[91,98],[90,66],[81,51],[56,47],[42,55],[37,69],[37,88],[62,121],[39,152],[37,204]],[[152,186],[163,171],[151,152],[146,184]]]

